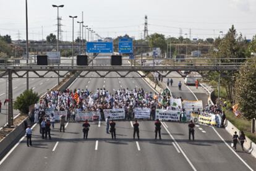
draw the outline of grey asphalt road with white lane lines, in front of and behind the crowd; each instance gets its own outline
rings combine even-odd
[[[175,73],[174,73],[175,74]],[[92,73],[96,76],[96,73]],[[109,73],[116,76],[116,73]],[[137,73],[130,73],[137,77]],[[173,96],[196,98],[207,103],[207,94],[199,87],[177,90]],[[152,91],[141,78],[77,78],[70,89],[95,91],[103,88],[114,92],[119,88],[143,88]],[[38,125],[33,128],[33,146],[25,139],[0,161],[0,170],[256,170],[256,159],[245,152],[230,149],[231,136],[222,128],[197,125],[195,141],[188,140],[187,123],[162,122],[162,140],[154,140],[154,122],[139,120],[140,140],[133,140],[130,121],[117,121],[117,139],[106,134],[105,122],[91,122],[88,140],[83,140],[82,123],[66,123],[66,132],[51,131],[52,140],[42,140]],[[226,144],[226,143],[227,144]],[[245,162],[245,163],[244,163]]]

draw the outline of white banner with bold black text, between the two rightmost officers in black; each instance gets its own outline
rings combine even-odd
[[[164,109],[156,109],[156,119],[160,120],[171,120],[171,121],[179,121],[179,116],[181,115],[180,111],[172,111],[172,110],[164,110]]]

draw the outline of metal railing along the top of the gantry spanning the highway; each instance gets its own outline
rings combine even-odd
[[[60,64],[37,65],[36,59],[0,59],[0,71],[14,70],[238,70],[245,58],[187,58],[187,59],[127,59],[121,66],[112,66],[110,57],[93,58],[88,66],[79,66],[72,58],[61,59]],[[129,60],[129,62],[127,62]]]

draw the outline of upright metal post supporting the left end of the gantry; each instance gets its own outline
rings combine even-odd
[[[14,125],[13,99],[12,99],[12,70],[8,69],[8,127]]]

